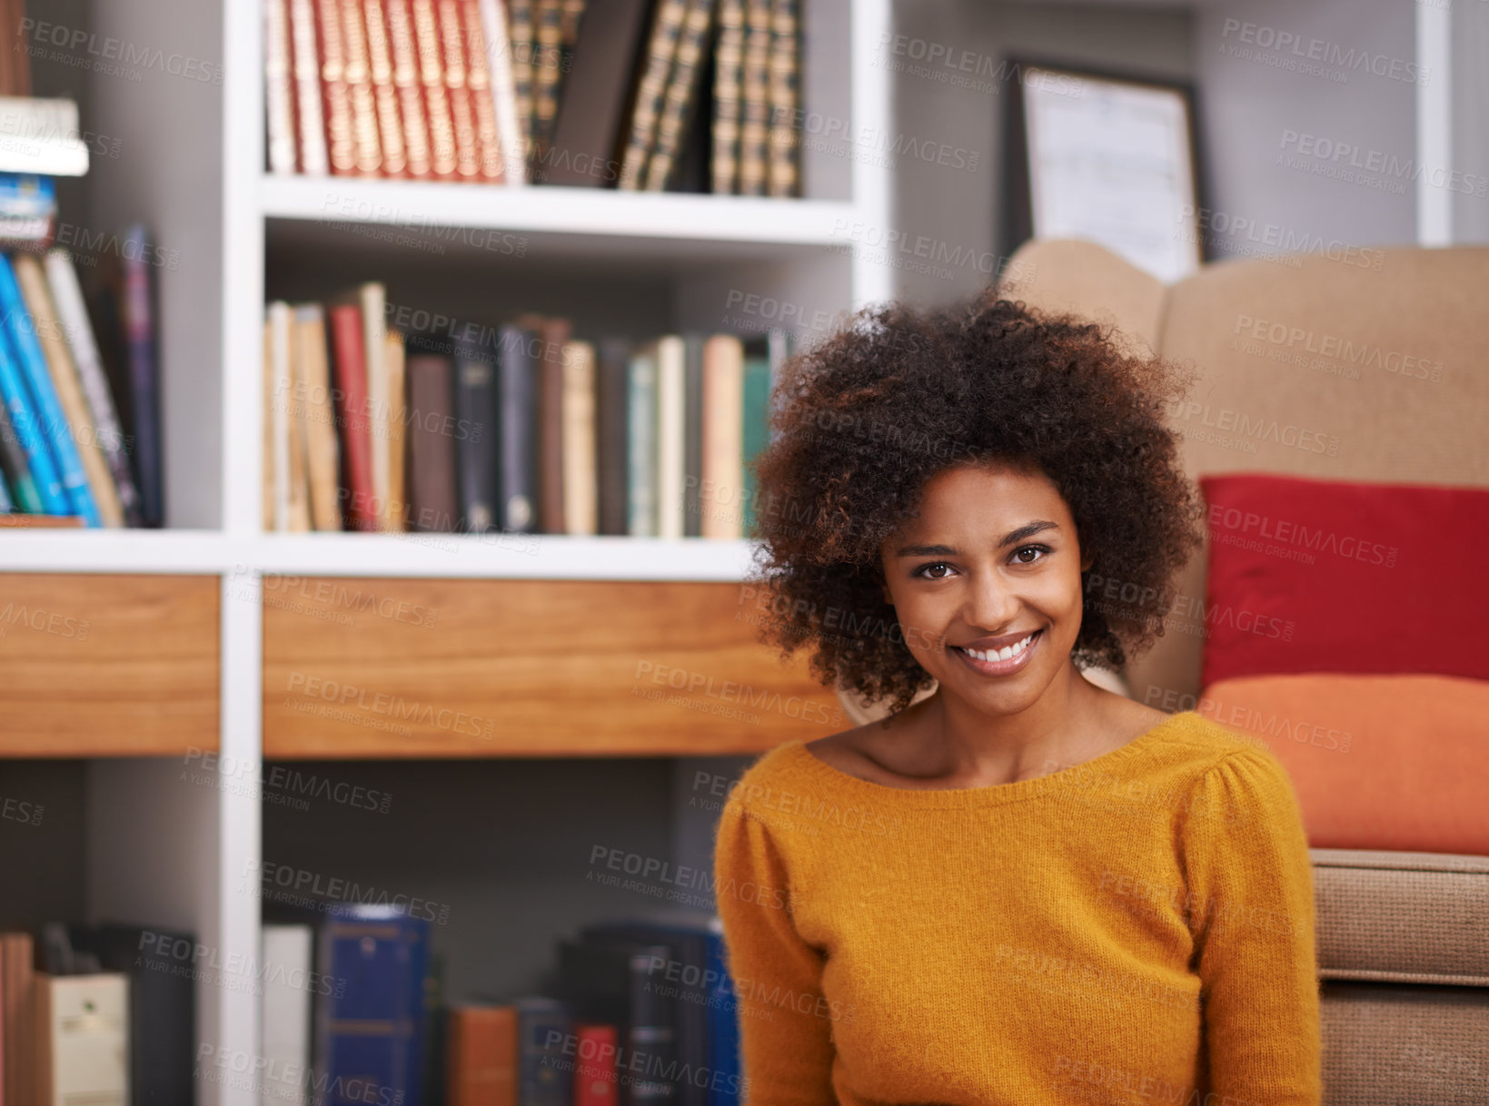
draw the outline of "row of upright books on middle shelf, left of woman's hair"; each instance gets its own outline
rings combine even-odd
[[[786,335],[404,335],[383,284],[268,305],[264,528],[737,539]]]

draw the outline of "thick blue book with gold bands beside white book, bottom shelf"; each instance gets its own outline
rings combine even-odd
[[[429,923],[398,907],[338,902],[316,960],[316,1103],[420,1106]]]

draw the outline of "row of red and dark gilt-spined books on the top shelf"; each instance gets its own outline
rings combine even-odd
[[[800,0],[264,0],[275,174],[800,194]]]

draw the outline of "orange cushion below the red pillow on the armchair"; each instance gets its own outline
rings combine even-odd
[[[1489,680],[1237,676],[1197,710],[1276,753],[1312,847],[1489,856]]]

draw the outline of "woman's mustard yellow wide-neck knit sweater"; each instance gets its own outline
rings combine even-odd
[[[1318,1106],[1291,783],[1196,712],[990,787],[868,783],[792,741],[724,807],[746,1106]]]

